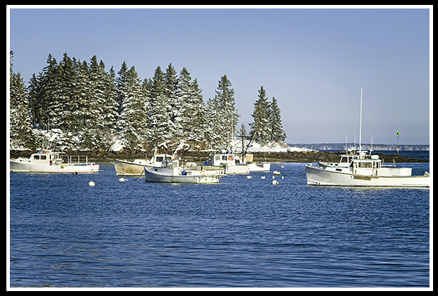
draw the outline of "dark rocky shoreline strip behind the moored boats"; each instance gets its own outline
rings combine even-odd
[[[11,150],[10,157],[12,159],[19,156],[29,157],[32,153],[35,153],[35,150]],[[65,152],[65,154],[86,155],[88,156],[88,161],[94,162],[110,162],[114,161],[114,159],[144,159],[146,155],[148,158],[152,156],[152,152],[145,153],[136,149],[121,149],[118,152],[107,149],[95,149],[93,151]],[[254,152],[253,154],[254,161],[311,163],[316,161],[339,161],[343,152]],[[384,159],[385,163],[392,163],[393,161],[396,163],[429,162],[428,159],[410,158],[403,155],[374,154],[379,155],[380,159]],[[401,152],[401,154],[403,154],[403,152]],[[182,159],[194,161],[198,164],[206,161],[209,155],[210,152],[186,151],[179,153]]]

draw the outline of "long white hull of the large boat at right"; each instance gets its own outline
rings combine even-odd
[[[430,187],[429,175],[355,175],[306,166],[307,185],[364,187]]]

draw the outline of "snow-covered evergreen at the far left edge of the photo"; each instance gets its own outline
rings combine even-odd
[[[20,73],[13,73],[12,71],[13,51],[10,51],[10,58],[9,144],[11,147],[35,147],[29,95]]]

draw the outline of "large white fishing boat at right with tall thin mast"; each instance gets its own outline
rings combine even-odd
[[[336,163],[305,166],[308,185],[366,187],[430,187],[430,174],[412,175],[412,168],[385,167],[378,155],[361,147],[362,88],[360,89],[359,154],[345,154]]]

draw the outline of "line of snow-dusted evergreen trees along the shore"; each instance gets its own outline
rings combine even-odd
[[[240,135],[262,144],[285,140],[280,109],[275,98],[268,102],[263,87],[254,103],[251,130]],[[33,74],[28,87],[10,66],[11,147],[37,147],[36,130],[57,128],[62,137],[56,148],[108,148],[117,140],[127,148],[156,147],[166,142],[203,142],[223,149],[237,136],[239,113],[235,91],[223,75],[215,97],[203,100],[196,78],[187,68],[179,72],[172,63],[152,78],[141,80],[134,66],[125,62],[117,72],[97,56],[80,61],[51,54],[47,66]],[[244,127],[243,127],[244,128]]]

